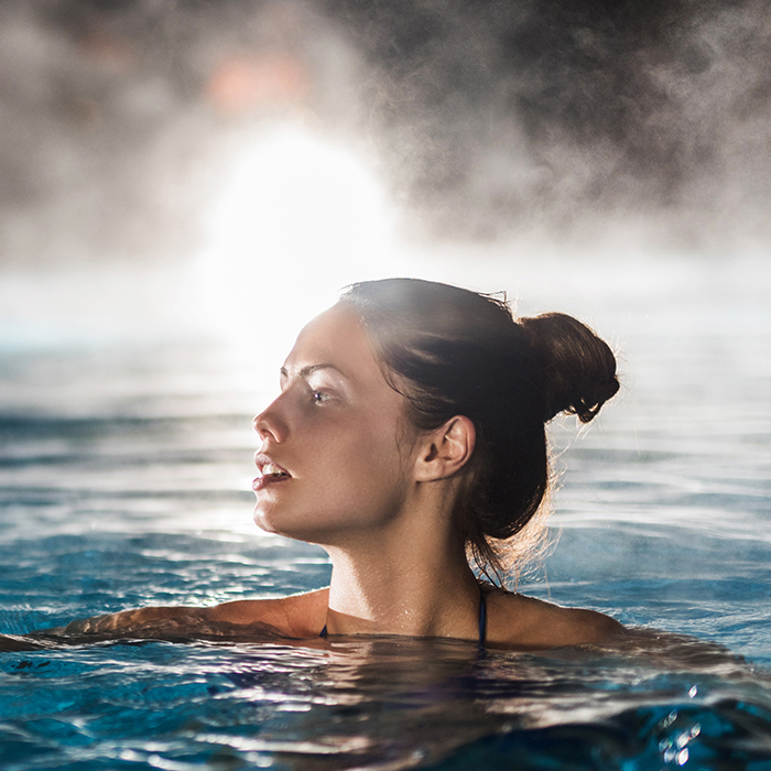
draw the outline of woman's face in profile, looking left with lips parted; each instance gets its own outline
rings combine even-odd
[[[257,524],[323,545],[377,534],[409,490],[403,401],[350,310],[311,322],[281,369],[281,394],[254,419]]]

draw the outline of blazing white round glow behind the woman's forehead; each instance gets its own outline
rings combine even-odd
[[[196,263],[210,328],[272,368],[346,284],[399,273],[382,186],[366,159],[300,128],[245,149]]]

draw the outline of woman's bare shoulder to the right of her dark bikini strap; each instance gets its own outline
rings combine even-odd
[[[491,644],[531,650],[607,643],[626,634],[616,619],[596,610],[564,608],[502,589],[488,594]]]

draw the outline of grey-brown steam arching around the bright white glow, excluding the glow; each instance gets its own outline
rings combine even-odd
[[[403,229],[613,229],[757,246],[771,205],[771,21],[737,3],[10,0],[6,260],[184,260],[218,149],[290,120],[369,144]]]

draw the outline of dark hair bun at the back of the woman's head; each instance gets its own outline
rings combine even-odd
[[[588,423],[619,389],[613,352],[589,327],[564,313],[518,323],[543,376],[544,422],[571,412]]]

